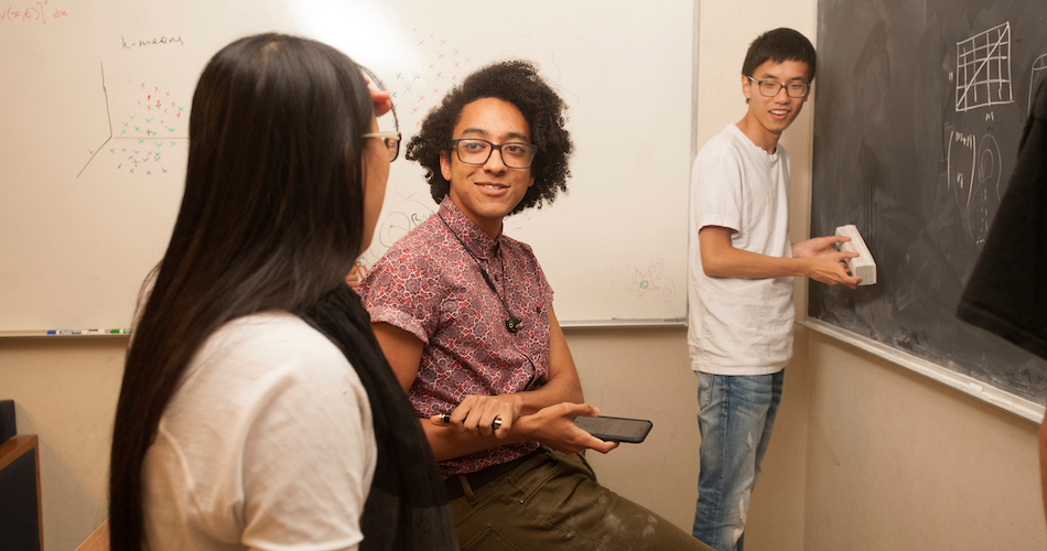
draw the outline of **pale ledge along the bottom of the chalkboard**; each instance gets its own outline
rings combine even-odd
[[[1027,400],[1019,396],[1012,395],[986,382],[980,381],[973,377],[953,371],[938,364],[919,358],[911,354],[892,348],[885,344],[877,343],[867,337],[840,328],[830,323],[808,317],[797,322],[809,329],[823,335],[842,341],[851,346],[865,350],[874,356],[878,356],[892,364],[909,369],[927,377],[928,379],[940,382],[947,387],[959,390],[964,395],[981,400],[991,406],[995,406],[1011,414],[1039,424],[1044,419],[1045,406]]]

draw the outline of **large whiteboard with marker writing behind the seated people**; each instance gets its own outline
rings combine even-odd
[[[22,6],[24,4],[24,6]],[[565,325],[687,313],[694,120],[692,0],[527,3],[46,0],[0,14],[0,335],[122,328],[161,259],[184,180],[188,110],[236,37],[303,34],[395,94],[404,139],[486,62],[536,62],[569,105],[569,193],[506,222]],[[435,209],[393,163],[365,263]]]

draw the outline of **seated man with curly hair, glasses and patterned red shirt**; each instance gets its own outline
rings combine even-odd
[[[422,122],[407,158],[439,210],[360,285],[375,335],[440,461],[469,549],[709,549],[598,485],[552,290],[506,216],[566,188],[563,100],[527,62],[484,67]]]

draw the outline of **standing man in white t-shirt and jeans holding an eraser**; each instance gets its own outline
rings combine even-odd
[[[789,242],[789,155],[778,138],[814,78],[814,47],[791,29],[764,33],[742,65],[747,110],[702,148],[691,176],[691,367],[699,378],[701,474],[695,538],[742,549],[782,369],[792,356],[792,278],[855,287],[833,244]]]

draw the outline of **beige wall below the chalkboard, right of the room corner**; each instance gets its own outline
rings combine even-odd
[[[1037,426],[814,332],[803,549],[1047,549]]]

